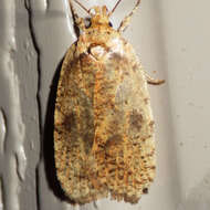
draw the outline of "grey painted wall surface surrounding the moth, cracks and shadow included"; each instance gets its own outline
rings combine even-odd
[[[116,0],[81,2],[113,8]],[[130,2],[122,1],[114,27]],[[76,40],[67,1],[1,0],[0,210],[210,209],[209,8],[208,0],[143,0],[124,35],[147,72],[167,81],[149,87],[155,183],[135,206],[104,199],[73,207],[62,200],[52,167],[55,84],[65,51]]]

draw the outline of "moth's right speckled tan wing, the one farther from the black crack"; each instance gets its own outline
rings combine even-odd
[[[112,198],[134,203],[155,177],[154,120],[138,57],[124,39],[117,43],[117,48],[111,43],[96,74],[96,159],[104,164],[101,174],[105,174]]]

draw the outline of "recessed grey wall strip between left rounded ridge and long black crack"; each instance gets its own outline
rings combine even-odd
[[[15,2],[15,69],[20,81],[22,118],[25,124],[24,145],[15,151],[17,175],[21,180],[19,200],[21,210],[36,210],[39,209],[36,167],[40,161],[42,116],[39,99],[40,51],[32,30],[31,1],[17,0]]]

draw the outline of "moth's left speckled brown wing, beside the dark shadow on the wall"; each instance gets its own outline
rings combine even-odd
[[[88,154],[94,139],[93,70],[98,66],[88,55],[76,57],[75,51],[73,44],[61,70],[54,113],[54,150],[62,189],[70,199],[84,203],[106,196],[107,190],[98,190],[88,180],[95,165]]]

